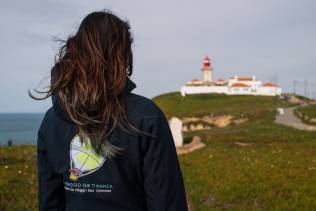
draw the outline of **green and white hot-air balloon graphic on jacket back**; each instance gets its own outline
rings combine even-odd
[[[98,170],[105,159],[97,155],[88,139],[81,143],[79,135],[76,135],[70,142],[70,179],[78,180],[79,177],[86,176]]]

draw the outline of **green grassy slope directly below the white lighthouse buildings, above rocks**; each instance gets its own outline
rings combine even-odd
[[[179,92],[159,95],[153,100],[168,117],[210,115],[239,115],[246,113],[257,116],[276,107],[288,107],[290,104],[278,101],[277,97],[265,96],[228,96],[225,94],[197,94],[181,97]]]

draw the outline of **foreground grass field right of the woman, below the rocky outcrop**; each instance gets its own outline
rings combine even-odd
[[[196,210],[316,207],[316,133],[253,121],[200,135],[207,146],[180,156]]]

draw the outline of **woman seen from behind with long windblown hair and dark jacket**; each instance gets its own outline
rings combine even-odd
[[[131,92],[129,30],[109,11],[89,14],[61,47],[45,97],[29,93],[53,102],[38,131],[39,210],[187,210],[168,121]]]

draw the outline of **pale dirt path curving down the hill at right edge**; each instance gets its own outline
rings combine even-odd
[[[298,107],[285,108],[284,115],[277,115],[274,122],[290,127],[294,127],[299,130],[316,131],[316,126],[303,123],[294,114],[294,110]]]

